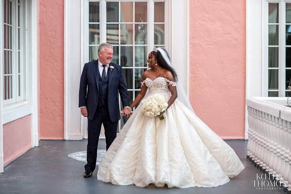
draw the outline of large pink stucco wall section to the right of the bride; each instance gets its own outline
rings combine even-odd
[[[244,139],[245,0],[190,0],[190,101],[223,139]]]

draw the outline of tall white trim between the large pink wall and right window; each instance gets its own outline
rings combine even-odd
[[[245,98],[261,97],[263,86],[263,2],[246,0],[246,75]],[[248,139],[245,106],[245,139]]]

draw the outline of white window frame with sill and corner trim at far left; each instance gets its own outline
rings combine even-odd
[[[26,92],[23,93],[26,100],[18,101],[17,103],[4,105],[3,101],[3,61],[0,62],[0,172],[3,172],[3,125],[19,119],[21,117],[31,115],[31,145],[38,146],[38,72],[37,72],[37,0],[22,0],[22,6],[25,8],[25,26],[22,26],[25,33],[23,34],[25,48],[25,56],[22,60],[25,63],[23,73],[25,81],[23,82]],[[0,10],[3,10],[3,1],[0,2]],[[0,32],[3,32],[3,16],[0,15],[1,27]],[[3,33],[0,33],[0,50],[3,54]],[[27,41],[25,41],[27,40]],[[2,57],[1,57],[2,60]],[[21,128],[21,126],[19,126]]]

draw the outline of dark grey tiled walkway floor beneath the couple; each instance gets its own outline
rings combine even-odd
[[[236,151],[245,166],[241,174],[215,188],[168,189],[154,185],[139,188],[104,183],[97,180],[97,169],[93,177],[83,178],[85,163],[67,155],[84,151],[87,140],[40,141],[38,147],[4,168],[4,173],[0,174],[0,194],[284,194],[277,188],[254,187],[252,182],[261,172],[246,159],[247,141],[227,140],[226,143]],[[105,148],[104,140],[99,141],[98,148]]]

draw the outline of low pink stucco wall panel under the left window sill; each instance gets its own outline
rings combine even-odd
[[[4,166],[32,147],[30,131],[30,115],[3,125]]]

